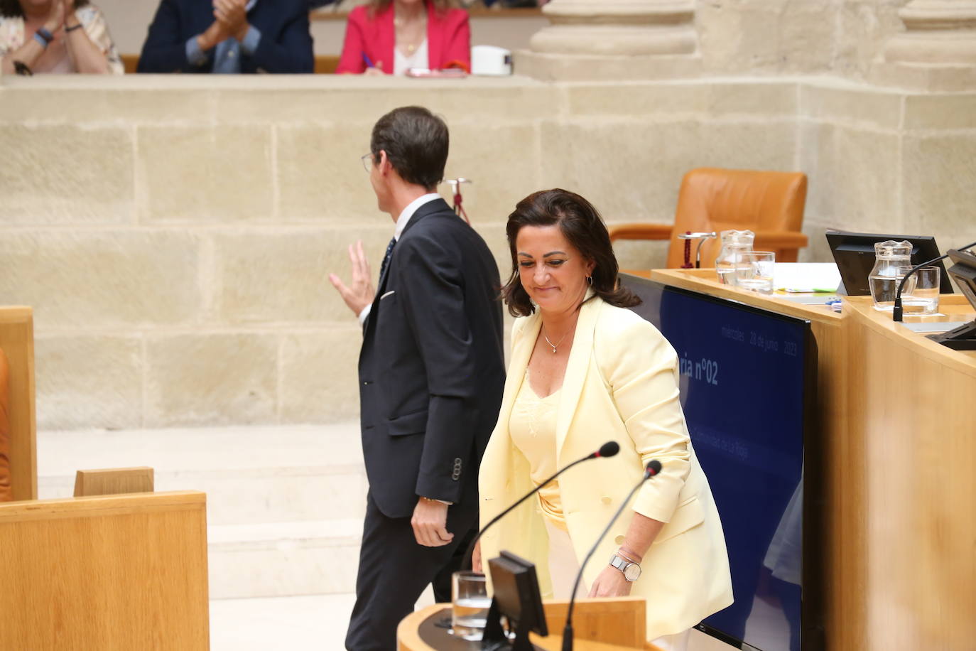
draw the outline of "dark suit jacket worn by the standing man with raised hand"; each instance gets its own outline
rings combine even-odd
[[[443,199],[393,247],[359,354],[366,473],[388,517],[418,496],[476,505],[505,385],[499,287],[488,246]]]

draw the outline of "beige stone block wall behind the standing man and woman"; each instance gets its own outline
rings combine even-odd
[[[325,423],[358,412],[358,325],[328,282],[392,224],[359,157],[386,110],[451,128],[449,177],[502,269],[543,187],[668,223],[698,166],[810,176],[828,227],[976,239],[976,94],[811,78],[543,83],[34,77],[0,85],[0,303],[35,309],[38,426]],[[664,264],[628,243],[625,267]],[[375,271],[374,271],[375,272]]]

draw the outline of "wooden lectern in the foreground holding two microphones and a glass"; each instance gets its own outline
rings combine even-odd
[[[546,625],[549,635],[531,634],[540,651],[562,648],[562,629],[566,624],[568,601],[547,601]],[[577,599],[573,610],[575,651],[660,651],[645,641],[646,602],[643,597],[615,599]],[[396,629],[397,651],[478,651],[480,642],[468,642],[451,635],[437,623],[451,617],[451,604],[437,603],[408,615]]]

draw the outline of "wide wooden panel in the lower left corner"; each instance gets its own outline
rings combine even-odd
[[[17,648],[209,648],[206,496],[0,505],[0,613]]]

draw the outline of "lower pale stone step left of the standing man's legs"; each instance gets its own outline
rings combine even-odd
[[[360,518],[214,525],[207,536],[212,599],[355,590]]]

